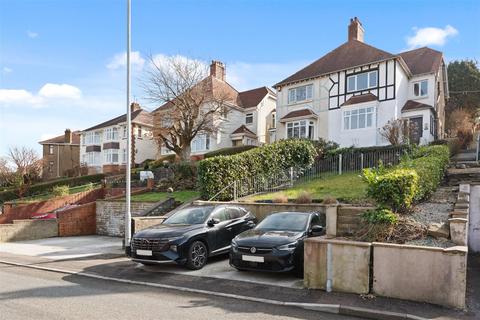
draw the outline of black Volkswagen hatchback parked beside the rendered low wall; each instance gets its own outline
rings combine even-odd
[[[279,212],[232,240],[230,265],[238,270],[303,274],[303,240],[324,234],[315,212]]]

